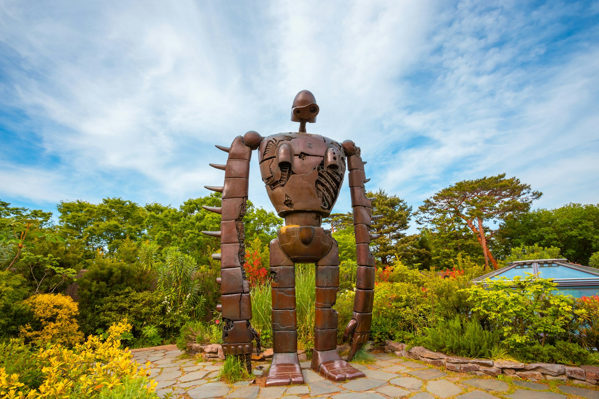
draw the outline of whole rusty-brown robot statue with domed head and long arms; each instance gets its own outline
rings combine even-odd
[[[353,318],[344,331],[350,339],[348,361],[368,340],[374,300],[374,257],[368,232],[371,200],[365,195],[364,164],[360,148],[346,140],[339,144],[329,138],[309,134],[307,122],[316,122],[319,107],[308,90],[295,96],[291,120],[299,122],[299,132],[279,133],[263,138],[250,131],[237,136],[226,165],[213,165],[225,171],[223,187],[205,186],[222,193],[222,207],[204,206],[222,215],[220,232],[204,232],[220,237],[220,302],[222,312],[223,353],[244,359],[251,370],[252,341],[259,337],[250,325],[252,304],[249,283],[245,279],[244,226],[250,157],[258,150],[262,180],[268,197],[285,226],[270,242],[270,273],[273,299],[273,362],[266,385],[288,385],[304,382],[297,355],[297,319],[295,313],[295,263],[316,264],[316,321],[311,368],[321,376],[340,381],[364,377],[343,360],[337,352],[337,312],[332,308],[339,290],[339,252],[330,230],[320,227],[322,218],[331,213],[345,175],[349,169],[353,225],[356,236],[358,272]],[[259,349],[258,349],[259,350]]]

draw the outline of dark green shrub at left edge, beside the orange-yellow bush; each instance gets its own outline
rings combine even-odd
[[[16,337],[19,326],[31,319],[23,300],[29,293],[25,278],[10,271],[0,271],[0,339]]]

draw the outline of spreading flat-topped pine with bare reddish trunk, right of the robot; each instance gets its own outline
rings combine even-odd
[[[464,180],[443,188],[419,206],[420,223],[440,223],[460,218],[477,237],[485,258],[485,269],[489,261],[497,269],[497,260],[489,250],[489,239],[493,231],[485,227],[485,221],[503,221],[509,215],[527,212],[533,200],[541,196],[532,191],[530,185],[518,178],[506,179],[506,173]]]

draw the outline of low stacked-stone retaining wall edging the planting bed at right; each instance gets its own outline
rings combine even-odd
[[[385,351],[394,353],[396,356],[420,360],[432,366],[443,366],[447,370],[479,376],[504,374],[532,381],[571,379],[574,383],[583,385],[597,385],[599,380],[597,366],[574,367],[553,363],[524,364],[508,360],[470,359],[429,351],[422,346],[415,346],[409,351],[406,351],[406,348],[407,345],[404,343],[387,341]]]

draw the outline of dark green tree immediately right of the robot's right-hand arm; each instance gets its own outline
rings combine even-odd
[[[401,253],[406,249],[402,248],[401,240],[406,237],[404,231],[408,228],[412,206],[408,206],[400,197],[391,196],[381,189],[376,193],[369,191],[367,197],[374,197],[372,214],[382,215],[382,218],[373,221],[370,227],[373,233],[380,234],[380,237],[370,244],[374,247],[374,256],[379,257],[385,265],[392,264],[392,258],[396,254],[401,258]]]

